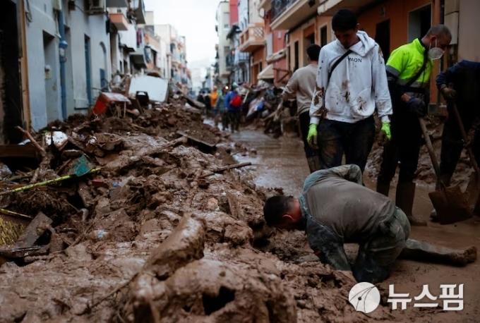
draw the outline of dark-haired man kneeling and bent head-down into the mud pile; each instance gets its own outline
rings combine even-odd
[[[311,173],[299,199],[277,195],[263,207],[268,226],[305,230],[320,261],[352,271],[356,281],[379,283],[400,255],[410,235],[404,212],[390,198],[364,187],[356,165]],[[350,267],[344,243],[358,243]]]

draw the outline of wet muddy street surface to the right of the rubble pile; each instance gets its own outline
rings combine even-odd
[[[309,171],[304,157],[303,142],[299,138],[274,139],[260,131],[243,130],[241,133],[234,133],[232,139],[256,150],[255,157],[236,157],[236,159],[239,162],[252,163],[252,168],[256,170],[257,185],[284,188],[284,193],[287,195],[298,196],[301,193],[304,178],[308,176]],[[366,185],[372,189],[376,187],[376,184],[368,179]],[[393,198],[395,198],[394,188],[395,185],[392,185],[390,191],[390,197]],[[429,219],[432,209],[428,192],[428,188],[417,188],[414,205],[415,214],[426,220]],[[450,248],[465,248],[469,245],[479,248],[479,230],[479,217],[446,226],[428,221],[426,227],[413,227],[410,238]],[[308,249],[306,240],[305,248]],[[356,246],[347,245],[346,250],[349,258],[353,260],[356,255]],[[464,310],[443,312],[435,316],[435,322],[478,322],[477,316],[480,313],[476,305],[480,302],[478,293],[480,281],[477,279],[479,269],[479,264],[476,262],[459,268],[443,264],[398,260],[390,278],[381,286],[388,291],[388,285],[395,284],[398,288],[398,291],[395,290],[396,293],[410,293],[410,298],[413,299],[426,284],[432,295],[440,295],[440,284],[464,284]],[[414,309],[410,306],[407,307],[406,312],[412,310]],[[430,311],[441,312],[436,309]]]

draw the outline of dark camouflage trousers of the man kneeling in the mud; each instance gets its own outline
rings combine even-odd
[[[376,234],[360,245],[352,268],[358,282],[380,283],[388,278],[389,267],[402,252],[410,236],[410,223],[395,207],[390,219],[379,225]]]

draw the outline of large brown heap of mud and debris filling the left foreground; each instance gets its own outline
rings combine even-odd
[[[72,116],[2,159],[0,322],[365,322],[349,274],[294,263],[303,234],[265,226],[282,190],[256,187],[246,147],[168,101]]]

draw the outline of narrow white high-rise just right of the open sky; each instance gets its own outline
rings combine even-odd
[[[230,4],[229,1],[220,1],[217,7],[217,25],[215,29],[218,35],[218,80],[221,84],[229,84],[230,69],[228,68],[232,59],[232,46],[227,35],[230,31]]]

